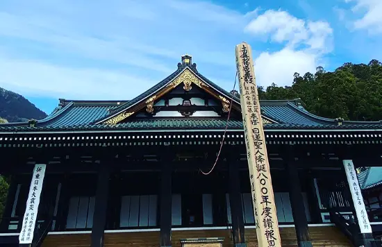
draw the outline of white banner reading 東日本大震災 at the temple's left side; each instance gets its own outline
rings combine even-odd
[[[19,235],[19,244],[32,244],[46,168],[46,164],[35,164],[35,169],[33,169],[22,230]]]

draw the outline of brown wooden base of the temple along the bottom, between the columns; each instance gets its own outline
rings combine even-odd
[[[310,226],[310,238],[313,246],[351,247],[350,242],[335,226]],[[297,239],[293,227],[280,229],[283,247],[296,247]],[[42,247],[84,247],[90,246],[90,234],[76,235],[48,235]],[[224,237],[224,247],[231,247],[231,232],[229,230],[173,230],[172,246],[180,247],[180,239]],[[248,247],[257,247],[256,230],[245,229]],[[119,232],[106,233],[104,246],[113,247],[157,247],[159,245],[159,231],[157,232]]]

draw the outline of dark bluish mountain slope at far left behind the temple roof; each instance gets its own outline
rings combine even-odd
[[[47,114],[20,94],[0,87],[0,117],[9,122],[43,119]]]

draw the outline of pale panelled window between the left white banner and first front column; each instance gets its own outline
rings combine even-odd
[[[75,196],[69,200],[67,229],[92,228],[94,214],[94,196]]]

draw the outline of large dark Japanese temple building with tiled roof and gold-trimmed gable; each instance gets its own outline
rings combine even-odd
[[[283,246],[378,243],[382,122],[299,99],[260,108]],[[186,55],[134,99],[60,99],[45,119],[0,124],[0,246],[256,246],[242,122],[239,93]]]

